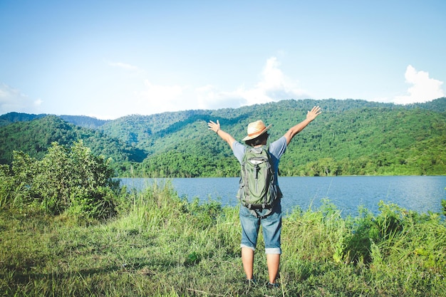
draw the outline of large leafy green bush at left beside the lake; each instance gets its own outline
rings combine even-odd
[[[12,168],[4,165],[1,205],[37,205],[49,214],[72,212],[78,217],[106,218],[115,213],[119,182],[110,160],[97,157],[82,142],[63,147],[53,142],[42,160],[14,152]]]

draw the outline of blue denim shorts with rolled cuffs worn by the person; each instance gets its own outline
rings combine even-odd
[[[259,214],[264,214],[264,212],[266,211],[261,211]],[[247,247],[255,251],[261,226],[265,242],[265,254],[281,254],[282,212],[280,200],[274,204],[271,214],[263,219],[255,217],[243,205],[240,205],[239,217],[240,224],[242,224],[242,244],[240,244],[242,248]]]

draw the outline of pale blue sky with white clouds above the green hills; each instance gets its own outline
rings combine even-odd
[[[0,0],[0,115],[445,97],[446,1]]]

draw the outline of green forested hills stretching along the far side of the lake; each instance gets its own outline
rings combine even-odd
[[[223,130],[241,140],[248,123],[261,119],[273,125],[270,140],[275,140],[304,120],[306,110],[313,105],[320,105],[323,114],[291,142],[281,160],[281,175],[446,174],[446,98],[414,105],[364,100],[283,100],[243,108],[129,115],[103,122],[94,119],[89,125],[88,117],[64,116],[71,123],[79,119],[77,125],[83,123],[82,128],[58,123],[68,125],[66,130],[55,129],[48,123],[31,124],[48,121],[48,117],[13,117],[11,113],[0,116],[1,160],[9,162],[11,150],[32,155],[48,147],[49,139],[68,143],[61,140],[81,138],[86,133],[90,136],[84,139],[100,139],[94,142],[93,152],[113,157],[120,176],[238,176],[237,160],[229,146],[207,129],[208,120],[219,120]],[[49,117],[49,121],[55,118]],[[39,128],[34,129],[33,125]],[[78,132],[63,132],[68,130]],[[46,142],[36,149],[11,141],[20,139],[26,143],[30,135],[31,143],[38,139]],[[100,150],[106,143],[115,143],[114,150]]]

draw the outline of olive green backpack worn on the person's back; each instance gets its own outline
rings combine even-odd
[[[271,214],[276,198],[281,197],[269,154],[269,147],[249,147],[241,164],[240,187],[237,194],[244,207],[259,217],[256,210],[269,209]]]

